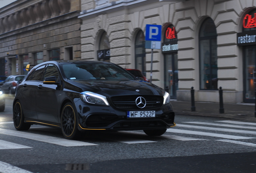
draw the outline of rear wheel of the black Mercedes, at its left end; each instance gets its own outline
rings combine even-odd
[[[16,101],[13,107],[13,124],[18,131],[26,131],[31,126],[31,124],[24,122],[24,114],[19,101]]]

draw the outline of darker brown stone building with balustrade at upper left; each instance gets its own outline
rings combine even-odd
[[[27,64],[47,60],[81,59],[80,2],[17,0],[0,8],[0,75],[26,74]]]

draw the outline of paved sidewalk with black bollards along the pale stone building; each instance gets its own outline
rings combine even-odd
[[[224,113],[219,113],[219,103],[195,102],[196,111],[191,111],[191,102],[171,100],[176,115],[199,115],[220,117],[239,121],[256,123],[254,117],[255,104],[253,103],[224,103]]]

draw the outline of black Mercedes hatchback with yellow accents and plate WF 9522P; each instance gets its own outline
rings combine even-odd
[[[165,90],[116,64],[98,61],[38,64],[17,87],[13,102],[17,130],[33,124],[58,127],[66,139],[89,130],[163,135],[175,126],[174,116]]]

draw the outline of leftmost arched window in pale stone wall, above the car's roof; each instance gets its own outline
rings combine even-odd
[[[107,32],[101,34],[99,40],[99,50],[97,51],[99,61],[110,61],[110,44],[107,36]]]

